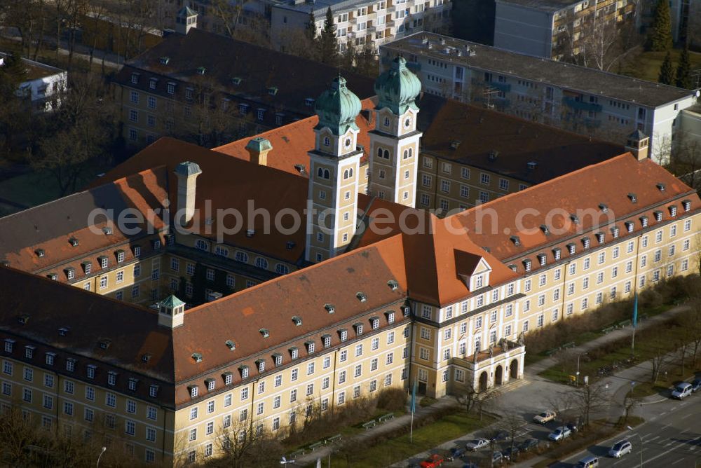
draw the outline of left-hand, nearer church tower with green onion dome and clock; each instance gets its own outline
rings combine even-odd
[[[306,260],[324,261],[351,242],[358,214],[358,171],[362,150],[355,118],[360,99],[339,76],[322,92],[314,110],[319,123],[309,151]]]

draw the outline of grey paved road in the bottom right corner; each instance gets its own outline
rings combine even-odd
[[[664,399],[659,403],[647,404],[637,408],[647,420],[609,441],[589,447],[562,463],[553,465],[557,468],[569,468],[586,455],[599,457],[600,468],[639,467],[641,443],[644,467],[694,468],[701,463],[701,392],[691,395],[684,401]],[[638,434],[638,435],[635,435]],[[628,439],[633,445],[633,452],[619,460],[606,457],[608,448],[620,439]]]

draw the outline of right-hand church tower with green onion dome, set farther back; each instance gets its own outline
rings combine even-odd
[[[416,130],[421,81],[397,57],[375,81],[379,102],[370,132],[369,195],[416,207],[421,132]]]

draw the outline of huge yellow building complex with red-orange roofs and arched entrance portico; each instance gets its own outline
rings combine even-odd
[[[379,124],[416,104],[397,70]],[[200,461],[242,423],[282,436],[414,381],[432,397],[504,385],[522,378],[522,333],[698,273],[701,200],[645,139],[639,158],[439,218],[402,191],[346,198],[362,106],[342,78],[318,102],[309,179],[261,164],[261,141],[238,158],[165,138],[89,191],[0,219],[0,403],[137,460]],[[333,219],[357,212],[334,243],[309,235],[321,190],[341,198]]]

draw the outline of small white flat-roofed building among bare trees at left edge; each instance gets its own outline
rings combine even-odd
[[[10,55],[0,52],[0,67],[4,67]],[[61,105],[67,90],[68,72],[50,65],[21,58],[25,67],[25,80],[20,83],[17,95],[27,98],[32,113],[49,112]]]

